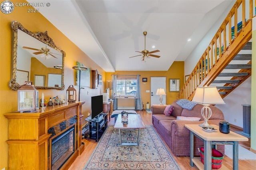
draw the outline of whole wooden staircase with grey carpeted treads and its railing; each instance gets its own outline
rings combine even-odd
[[[253,1],[236,1],[177,99],[191,101],[196,87],[205,85],[216,86],[224,98],[251,76],[252,12]]]

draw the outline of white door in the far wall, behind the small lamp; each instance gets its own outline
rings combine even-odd
[[[166,77],[151,77],[150,78],[150,93],[151,93],[151,105],[152,104],[160,104],[159,95],[156,95],[156,91],[157,89],[164,89],[165,93],[166,93]],[[163,95],[163,104],[166,104],[166,95]]]

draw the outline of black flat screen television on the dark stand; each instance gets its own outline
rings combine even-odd
[[[92,119],[103,112],[103,95],[92,96]]]

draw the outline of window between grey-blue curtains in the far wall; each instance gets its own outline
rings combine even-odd
[[[118,76],[116,78],[116,96],[133,96],[136,94],[137,78],[135,76]]]

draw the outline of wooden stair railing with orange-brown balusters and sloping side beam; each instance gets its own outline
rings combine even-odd
[[[216,32],[214,38],[194,67],[192,73],[189,75],[184,86],[181,88],[177,95],[177,99],[192,100],[196,87],[205,85],[209,86],[216,77],[222,75],[222,70],[228,66],[232,59],[238,56],[238,52],[246,46],[252,38],[252,13],[252,0],[249,1],[249,5],[246,4],[245,0],[237,0],[235,2],[224,22]],[[246,18],[246,16],[249,16],[249,18]],[[238,22],[238,18],[242,21]],[[244,73],[244,71],[246,71],[248,75],[238,77],[233,76],[231,80],[236,80],[236,84],[240,85],[251,75],[250,68],[241,69],[239,73]],[[226,83],[224,85],[225,87],[223,87],[230,88],[228,86],[232,85],[232,89],[229,89],[228,93],[234,90],[233,87],[236,87],[232,81]],[[226,89],[220,89],[219,92],[223,92],[225,90]],[[228,93],[223,93],[222,98]]]

